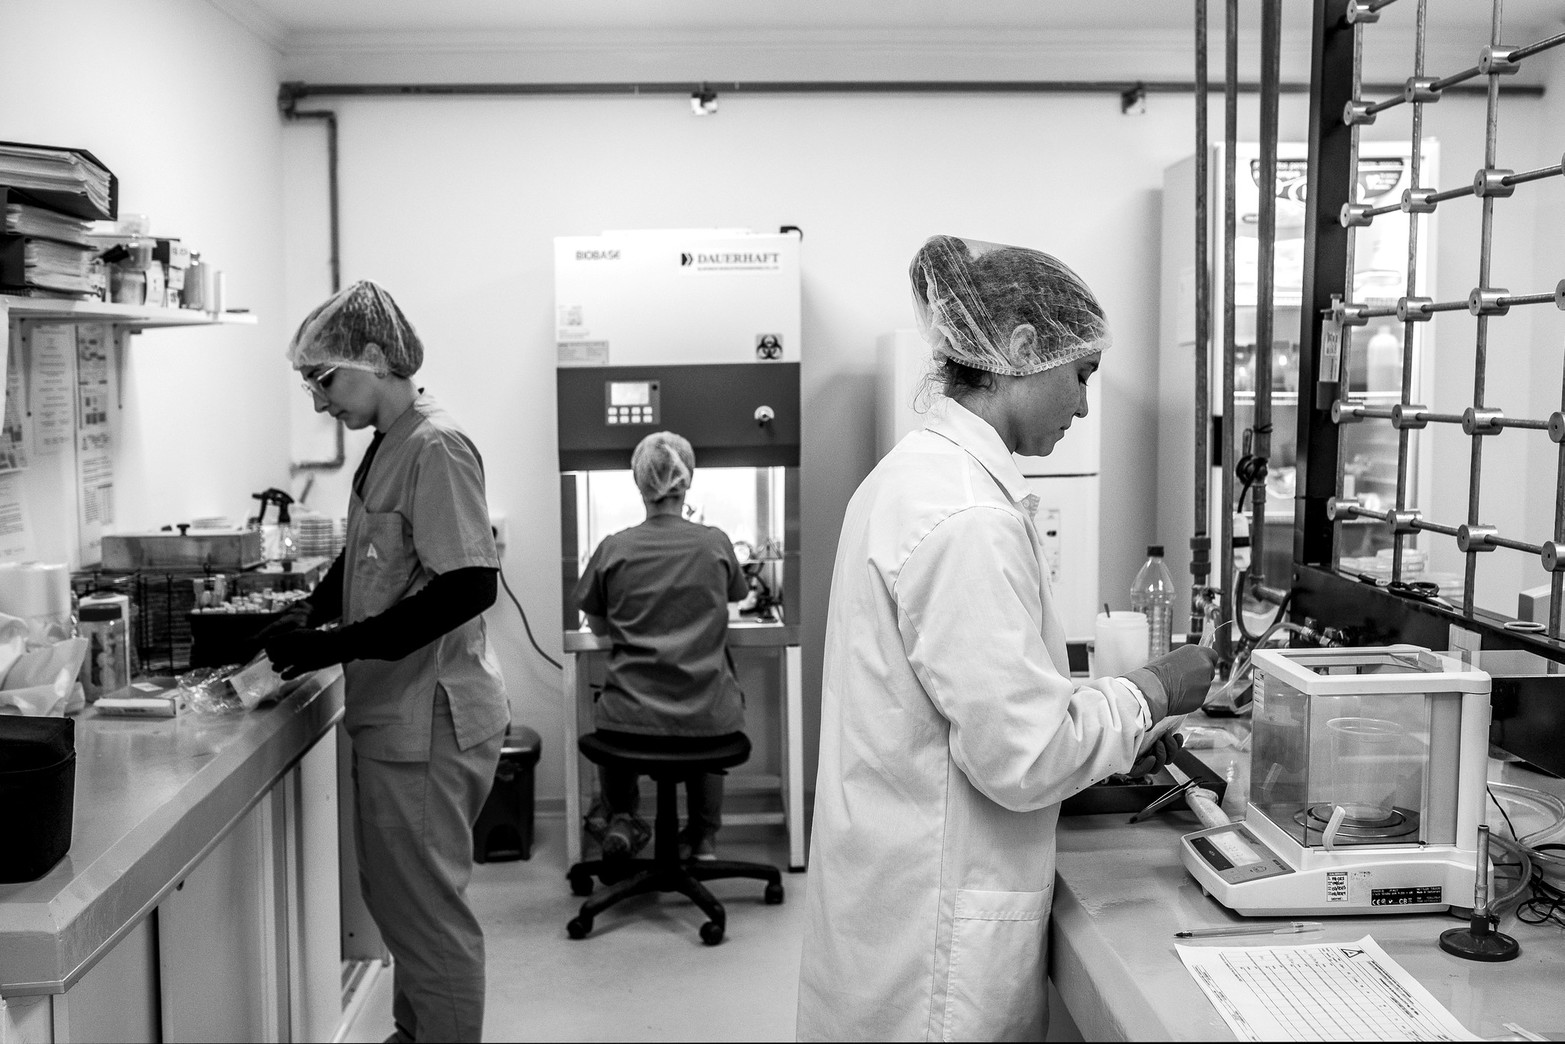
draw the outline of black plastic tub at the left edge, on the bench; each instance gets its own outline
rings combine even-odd
[[[0,881],[36,881],[70,851],[77,723],[0,715]]]

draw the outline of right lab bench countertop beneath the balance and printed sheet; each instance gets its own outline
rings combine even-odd
[[[1199,751],[1229,779],[1224,811],[1244,806],[1247,759]],[[1552,789],[1565,781],[1526,773],[1507,783]],[[1089,1041],[1232,1041],[1233,1033],[1174,949],[1174,933],[1244,923],[1202,894],[1178,856],[1182,834],[1199,830],[1177,812],[1127,823],[1125,815],[1063,817],[1050,923],[1050,980],[1070,1019]],[[1463,922],[1440,914],[1322,917],[1324,931],[1304,936],[1238,936],[1194,945],[1293,945],[1352,942],[1371,936],[1468,1030],[1510,1036],[1515,1022],[1552,1039],[1565,1038],[1565,931],[1520,923],[1501,931],[1521,956],[1501,964],[1465,961],[1440,949],[1440,933]],[[1182,941],[1189,944],[1191,941]],[[1512,1039],[1515,1039],[1512,1036]]]

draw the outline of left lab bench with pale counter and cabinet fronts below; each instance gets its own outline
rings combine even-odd
[[[88,707],[70,851],[0,884],[0,1042],[330,1039],[341,714],[338,668],[236,715]]]

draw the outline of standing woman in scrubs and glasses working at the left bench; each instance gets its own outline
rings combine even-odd
[[[347,545],[266,654],[283,678],[343,664],[360,881],[394,958],[390,1039],[477,1041],[473,823],[510,722],[480,615],[499,571],[484,462],[413,383],[424,347],[376,283],[311,311],[288,360],[318,413],[376,435],[354,473]]]

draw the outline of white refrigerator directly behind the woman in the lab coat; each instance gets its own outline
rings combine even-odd
[[[884,457],[925,426],[941,393],[928,387],[930,346],[917,330],[892,330],[876,343],[875,449]],[[1092,637],[1099,612],[1099,393],[1088,385],[1088,415],[1077,419],[1047,457],[1016,459],[1038,496],[1038,535],[1066,635]],[[1121,604],[1116,609],[1128,609]]]

